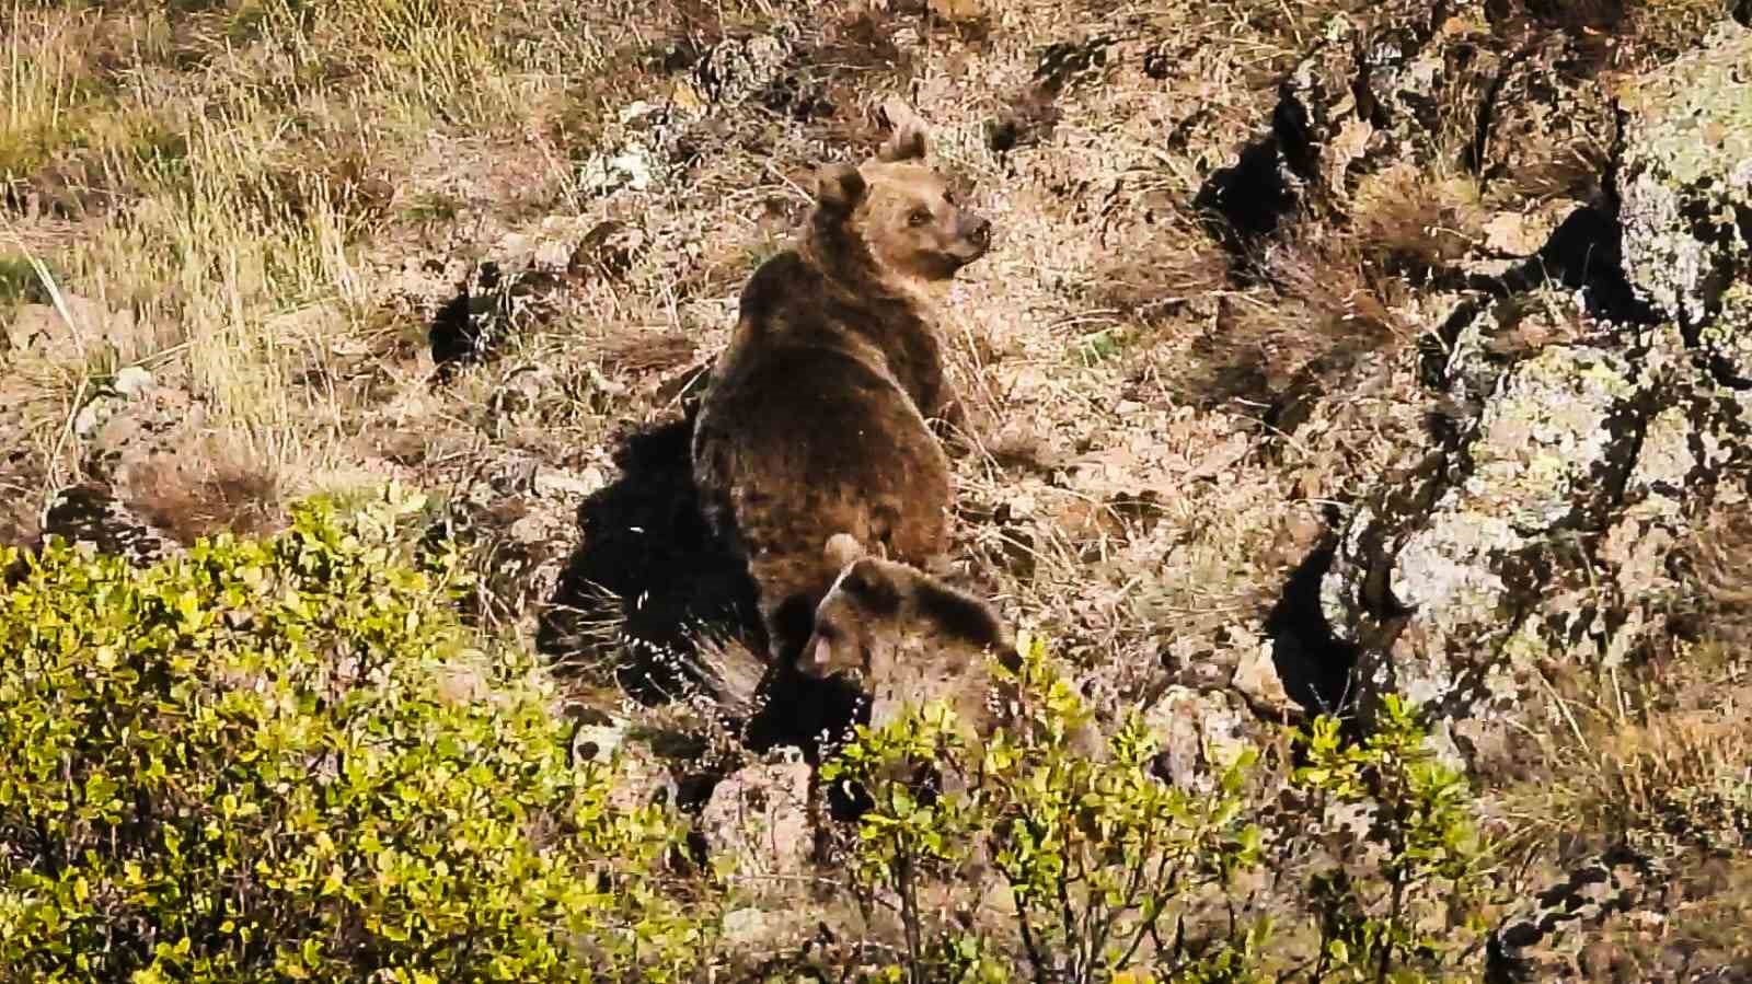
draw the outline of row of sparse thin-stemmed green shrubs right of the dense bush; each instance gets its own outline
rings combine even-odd
[[[1134,713],[1102,756],[1083,758],[1067,739],[1088,711],[1039,641],[1020,655],[1016,674],[993,665],[1020,693],[993,737],[967,741],[946,706],[927,704],[860,728],[823,765],[872,800],[851,881],[865,907],[897,912],[904,937],[880,980],[1405,982],[1475,970],[1491,846],[1410,706],[1386,700],[1361,742],[1333,718],[1293,728],[1305,765],[1284,779],[1305,814],[1267,837],[1244,795],[1253,749],[1209,793],[1174,788],[1151,774],[1156,742]],[[929,772],[941,795],[920,791]],[[1340,812],[1368,821],[1349,828]],[[1006,895],[997,919],[992,905],[969,914],[988,895],[972,882],[983,868]],[[1270,917],[1261,884],[1279,889],[1263,902]]]

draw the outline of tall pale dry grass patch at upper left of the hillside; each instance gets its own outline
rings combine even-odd
[[[173,361],[217,427],[286,474],[338,453],[352,408],[294,380],[377,303],[363,245],[434,123],[520,140],[564,88],[554,67],[603,63],[561,19],[496,51],[487,14],[436,0],[16,12],[0,172],[23,214],[0,233],[28,243],[44,212],[86,214],[53,259],[70,292],[140,327],[119,357]],[[284,317],[314,305],[324,317]]]

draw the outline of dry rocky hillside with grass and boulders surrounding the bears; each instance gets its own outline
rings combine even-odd
[[[1281,725],[1416,700],[1501,847],[1494,979],[1752,975],[1743,0],[14,16],[0,545],[426,488],[468,615],[759,854],[727,816],[795,769],[629,725],[748,616],[685,413],[899,95],[995,226],[950,301],[960,583],[1170,784],[1261,749],[1268,837],[1344,826]],[[746,931],[815,930],[783,909]]]

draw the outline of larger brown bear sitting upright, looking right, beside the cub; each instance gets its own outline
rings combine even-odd
[[[946,548],[950,467],[927,418],[955,410],[936,306],[985,256],[990,224],[923,156],[923,130],[908,121],[874,159],[823,168],[808,228],[743,289],[701,397],[701,510],[746,559],[781,667],[839,574],[827,534],[916,566]]]

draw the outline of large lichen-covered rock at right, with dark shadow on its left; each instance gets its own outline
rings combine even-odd
[[[1678,331],[1551,345],[1501,376],[1458,450],[1353,515],[1321,585],[1365,700],[1437,711],[1473,765],[1514,756],[1552,664],[1615,665],[1666,632],[1689,497],[1743,464],[1747,408]]]

